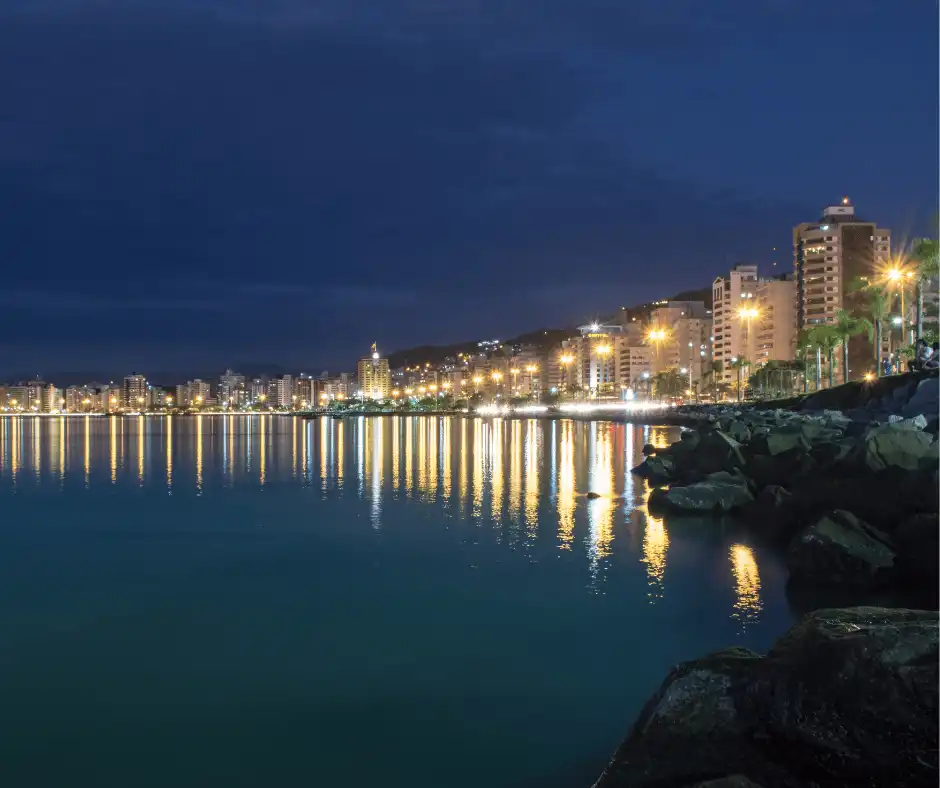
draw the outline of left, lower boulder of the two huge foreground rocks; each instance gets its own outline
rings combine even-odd
[[[673,668],[595,788],[694,785],[716,775],[776,771],[749,742],[752,723],[738,711],[760,660],[729,648]]]

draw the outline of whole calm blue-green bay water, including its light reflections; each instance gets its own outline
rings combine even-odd
[[[589,785],[672,664],[791,622],[779,558],[646,512],[676,436],[0,419],[0,784]]]

